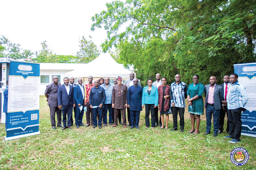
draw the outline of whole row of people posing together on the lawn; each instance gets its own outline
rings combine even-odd
[[[58,83],[58,77],[53,77],[53,82],[46,88],[45,95],[50,107],[50,116],[52,128],[56,129],[55,113],[57,114],[57,127],[62,130],[73,126],[72,110],[74,108],[74,117],[76,128],[79,126],[91,126],[101,129],[108,124],[113,127],[118,126],[118,122],[124,128],[131,126],[130,129],[139,129],[140,111],[145,108],[145,128],[155,128],[158,125],[161,129],[168,129],[169,114],[173,114],[174,126],[171,131],[178,130],[178,113],[180,116],[180,132],[184,132],[184,112],[185,99],[188,102],[188,112],[191,119],[191,129],[188,133],[199,134],[200,115],[206,108],[206,133],[210,134],[211,117],[214,117],[214,137],[223,132],[224,118],[227,113],[227,133],[230,142],[239,142],[242,122],[241,112],[248,101],[246,90],[238,82],[238,75],[231,74],[224,76],[224,83],[217,85],[215,76],[209,79],[210,84],[203,85],[199,83],[199,76],[193,76],[193,83],[187,86],[181,81],[179,74],[175,75],[175,82],[167,85],[167,78],[161,78],[156,75],[156,81],[147,80],[147,86],[141,87],[139,79],[131,72],[130,79],[122,83],[122,77],[114,79],[114,84],[110,83],[110,78],[100,78],[94,80],[90,76],[88,83],[84,86],[82,79],[78,79],[78,84],[74,83],[74,78],[65,77],[64,84]],[[205,104],[203,102],[203,93],[205,93]],[[128,125],[126,124],[127,109]],[[87,124],[82,123],[83,113],[86,110]],[[62,123],[61,125],[61,111]],[[160,116],[158,119],[158,111]],[[165,125],[164,125],[165,115]],[[68,118],[67,118],[68,116]],[[122,122],[121,122],[122,116]],[[126,126],[127,125],[127,126]],[[196,127],[195,127],[196,125]]]

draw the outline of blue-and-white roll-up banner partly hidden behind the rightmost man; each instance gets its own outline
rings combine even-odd
[[[248,94],[246,111],[241,114],[242,135],[256,137],[256,63],[234,64],[234,73]]]

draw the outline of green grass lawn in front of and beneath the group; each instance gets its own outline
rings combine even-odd
[[[145,129],[145,113],[140,115],[140,129],[118,126],[80,127],[52,130],[45,96],[40,96],[40,135],[5,141],[5,125],[0,124],[1,169],[256,169],[256,138],[242,136],[241,142],[229,143],[226,133],[203,136],[206,131],[202,116],[200,134],[190,135],[189,114],[185,112],[185,131],[171,132],[159,127]],[[178,117],[179,120],[179,117]],[[86,124],[86,118],[83,123]],[[179,122],[178,122],[179,123]],[[225,125],[226,126],[226,125]],[[230,152],[245,148],[249,161],[236,166]]]

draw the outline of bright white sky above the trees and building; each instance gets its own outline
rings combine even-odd
[[[106,39],[104,29],[91,31],[92,16],[106,10],[113,0],[0,0],[0,36],[19,43],[24,50],[41,50],[41,42],[58,55],[76,55],[84,36],[99,47]],[[100,49],[101,50],[101,49]]]

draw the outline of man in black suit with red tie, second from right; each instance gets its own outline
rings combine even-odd
[[[224,101],[227,101],[227,88],[229,83],[229,76],[224,76],[223,78],[224,83],[222,83],[220,86],[223,89],[223,95],[224,95]],[[222,101],[222,102],[224,102]],[[224,102],[225,103],[225,102]],[[222,104],[223,107],[221,107],[221,111],[220,111],[220,121],[219,121],[219,132],[218,133],[222,133],[223,132],[223,127],[224,127],[224,119],[225,119],[225,114],[227,113],[227,104]],[[227,133],[229,131],[229,123],[228,123],[228,117],[227,117],[227,129],[226,129]]]

